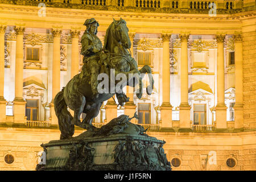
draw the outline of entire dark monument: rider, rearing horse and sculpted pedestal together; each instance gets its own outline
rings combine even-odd
[[[154,85],[151,68],[144,65],[138,70],[137,63],[127,50],[131,47],[128,28],[122,18],[114,20],[106,31],[104,47],[97,38],[98,22],[92,18],[85,21],[86,31],[81,39],[84,55],[84,65],[80,74],[73,77],[59,92],[54,100],[55,112],[61,131],[60,140],[42,144],[46,151],[46,165],[37,166],[38,170],[171,170],[166,154],[164,154],[162,140],[149,137],[147,129],[141,125],[131,123],[137,118],[120,115],[106,123],[101,128],[92,125],[92,119],[98,115],[103,101],[117,96],[119,105],[129,101],[122,92],[122,87],[139,85],[138,98],[142,97],[142,73],[148,73],[150,85],[147,94],[151,94]],[[122,73],[128,78],[119,88],[114,88],[118,82],[111,78]],[[99,73],[106,73],[109,87],[100,93],[97,77]],[[137,73],[139,77],[129,77]],[[111,82],[114,81],[114,84]],[[74,117],[67,107],[74,111]],[[86,113],[80,122],[81,113]],[[86,131],[77,137],[72,137],[75,127]],[[56,146],[60,146],[57,147]]]

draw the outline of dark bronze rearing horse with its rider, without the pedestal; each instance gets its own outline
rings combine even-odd
[[[138,84],[136,95],[142,97],[143,84],[142,78],[148,73],[150,85],[147,86],[147,94],[151,94],[154,80],[151,75],[151,68],[148,65],[138,70],[138,65],[131,56],[131,41],[129,29],[125,20],[113,19],[113,22],[106,30],[104,46],[97,37],[98,22],[94,19],[87,19],[84,23],[86,30],[81,38],[81,55],[84,56],[81,73],[74,76],[68,84],[56,94],[54,98],[55,113],[58,118],[61,131],[60,139],[71,138],[75,132],[75,126],[97,133],[100,130],[92,125],[93,118],[97,117],[100,107],[104,101],[114,95],[117,97],[118,104],[123,106],[129,101],[125,93],[122,92],[123,86],[135,87]],[[127,77],[125,84],[120,87],[120,92],[116,92],[115,86],[118,81],[113,80],[111,75],[117,76],[123,73]],[[109,87],[105,88],[108,92],[98,92],[98,75],[105,73],[110,78]],[[137,76],[130,76],[137,75]],[[111,82],[114,81],[114,84]],[[110,90],[115,90],[110,92]],[[69,113],[68,108],[74,111],[74,115]],[[86,117],[80,121],[80,115]]]

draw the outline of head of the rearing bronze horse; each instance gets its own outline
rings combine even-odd
[[[114,23],[115,38],[117,39],[117,41],[121,42],[124,48],[126,49],[131,48],[131,40],[128,34],[129,29],[126,26],[125,20],[123,20],[122,18],[120,18],[119,20],[114,19],[113,23]]]

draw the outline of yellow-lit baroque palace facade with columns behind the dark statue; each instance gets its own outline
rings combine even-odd
[[[254,0],[0,0],[0,170],[34,170],[40,144],[59,139],[52,100],[81,71],[88,18],[102,43],[125,19],[155,80],[151,96],[106,101],[94,126],[137,111],[173,170],[256,170]]]

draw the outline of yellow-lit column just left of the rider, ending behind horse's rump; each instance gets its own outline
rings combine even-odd
[[[71,78],[79,73],[79,35],[80,31],[72,30],[72,59],[71,59]]]

